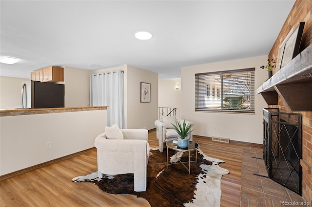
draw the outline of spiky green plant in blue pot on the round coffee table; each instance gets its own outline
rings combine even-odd
[[[186,124],[187,121],[183,120],[181,124],[180,121],[176,121],[175,123],[171,123],[173,128],[176,130],[176,133],[180,136],[177,138],[177,146],[180,148],[186,148],[188,146],[188,138],[186,138],[192,131],[193,123],[189,122]]]

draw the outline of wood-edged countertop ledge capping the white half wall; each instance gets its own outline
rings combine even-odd
[[[0,110],[0,117],[31,115],[31,114],[50,114],[62,112],[75,112],[75,111],[106,110],[107,107],[108,106],[82,106],[82,107],[65,107],[65,108],[27,108],[27,109]]]

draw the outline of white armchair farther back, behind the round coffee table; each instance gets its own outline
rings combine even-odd
[[[176,123],[176,121],[179,121],[181,124],[183,124],[184,120],[176,120],[175,116],[163,116],[162,119],[155,121],[156,138],[158,139],[158,148],[161,153],[164,151],[164,142],[176,139],[179,136],[171,124]],[[188,123],[192,122],[186,121],[186,124]],[[188,138],[190,141],[193,141],[192,132],[188,135]]]

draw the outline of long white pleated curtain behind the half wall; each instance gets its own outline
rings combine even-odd
[[[117,123],[124,128],[123,71],[111,71],[90,76],[90,106],[107,105],[107,125]]]

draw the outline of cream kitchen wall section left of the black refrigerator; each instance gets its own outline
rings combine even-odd
[[[21,107],[20,92],[25,78],[0,76],[0,109],[14,109]]]

